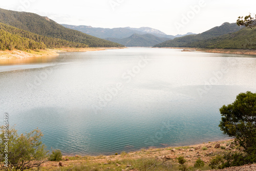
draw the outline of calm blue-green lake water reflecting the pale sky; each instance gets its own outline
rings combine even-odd
[[[219,108],[256,92],[248,55],[129,48],[2,63],[0,113],[69,155],[226,139]]]

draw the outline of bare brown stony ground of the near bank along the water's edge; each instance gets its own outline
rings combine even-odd
[[[140,149],[140,151],[135,152],[122,152],[120,154],[115,155],[98,155],[98,156],[62,156],[61,163],[63,166],[66,166],[67,169],[74,165],[82,165],[85,164],[87,166],[100,166],[101,169],[118,169],[118,168],[127,168],[127,165],[130,163],[134,163],[135,161],[145,160],[155,160],[156,162],[161,162],[163,160],[169,160],[173,163],[174,166],[178,168],[178,160],[179,156],[184,156],[186,159],[186,164],[188,166],[194,166],[196,160],[201,158],[206,166],[203,168],[204,170],[209,170],[208,166],[212,157],[220,154],[224,154],[229,152],[238,151],[236,146],[230,146],[234,139],[220,140],[220,141],[212,141],[195,145],[188,146],[173,146],[173,147],[164,147],[164,148],[148,148],[148,149]],[[130,161],[130,162],[129,162]],[[118,164],[117,164],[118,163]],[[123,164],[125,163],[125,164]],[[52,167],[52,169],[59,168],[59,162],[47,162],[43,165],[44,168]],[[137,170],[137,168],[133,168]]]

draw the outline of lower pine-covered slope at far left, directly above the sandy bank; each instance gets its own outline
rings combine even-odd
[[[88,45],[34,34],[0,23],[0,50],[45,49],[60,47],[86,48]]]

